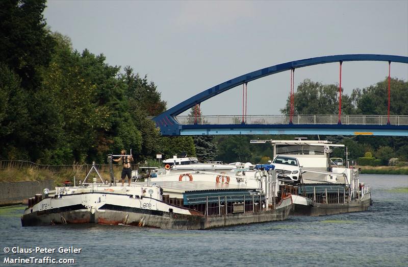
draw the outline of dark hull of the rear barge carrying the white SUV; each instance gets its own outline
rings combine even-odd
[[[305,206],[294,204],[291,215],[300,216],[322,216],[330,214],[340,214],[347,212],[366,211],[371,205],[371,193],[366,193],[361,201],[353,200],[344,204],[323,204],[313,202],[312,205]]]

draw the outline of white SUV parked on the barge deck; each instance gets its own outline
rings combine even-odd
[[[275,165],[275,171],[278,179],[290,183],[300,182],[301,166],[297,158],[277,155],[272,164]]]

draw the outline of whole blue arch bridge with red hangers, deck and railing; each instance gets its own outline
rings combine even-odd
[[[228,135],[228,134],[323,134],[323,135],[388,135],[408,136],[408,115],[390,115],[390,83],[388,88],[388,114],[385,115],[344,115],[341,114],[341,67],[343,61],[386,61],[407,63],[408,57],[393,55],[334,55],[291,61],[249,72],[228,80],[175,105],[154,121],[163,136],[177,135]],[[213,96],[243,85],[243,98],[248,82],[278,72],[290,70],[294,75],[296,68],[317,64],[339,62],[339,114],[338,115],[295,115],[294,85],[291,78],[290,114],[287,115],[247,115],[243,103],[241,115],[180,116],[184,111],[206,101]],[[245,93],[244,93],[245,92]]]

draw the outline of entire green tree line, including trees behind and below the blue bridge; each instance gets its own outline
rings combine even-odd
[[[72,47],[43,17],[45,0],[0,2],[0,159],[40,164],[106,162],[132,149],[137,162],[186,152],[201,161],[266,162],[270,144],[250,139],[295,136],[162,137],[147,116],[166,110],[156,84],[130,66],[111,66],[103,54]],[[295,114],[337,114],[338,85],[304,80]],[[408,114],[408,83],[391,79],[391,114]],[[281,110],[288,114],[290,99]],[[388,80],[342,95],[342,114],[387,114]],[[200,119],[193,107],[190,116]],[[345,143],[351,158],[366,152],[408,160],[406,137],[319,136]],[[315,139],[315,136],[310,136]],[[335,151],[335,156],[342,156]]]

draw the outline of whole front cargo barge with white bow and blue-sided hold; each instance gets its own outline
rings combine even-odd
[[[112,156],[108,157],[112,165]],[[89,181],[90,173],[97,178]],[[270,186],[273,173],[263,173]],[[163,187],[162,187],[163,186]],[[264,188],[266,189],[266,188]],[[107,224],[201,230],[282,221],[293,207],[289,193],[215,182],[176,181],[116,186],[95,166],[78,186],[56,187],[29,199],[22,226]]]

